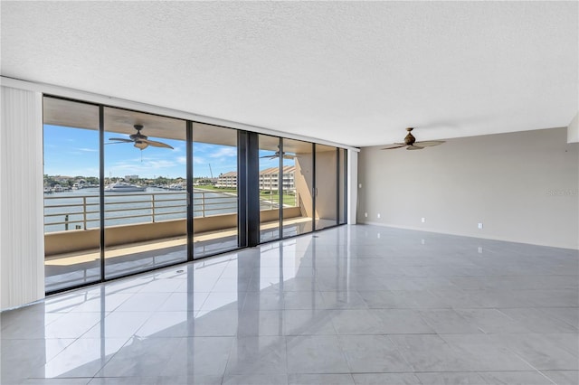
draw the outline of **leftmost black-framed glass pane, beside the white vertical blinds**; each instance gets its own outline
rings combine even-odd
[[[43,99],[45,290],[100,281],[99,107]]]

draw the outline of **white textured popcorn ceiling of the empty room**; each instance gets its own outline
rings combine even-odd
[[[2,75],[348,146],[567,126],[577,2],[1,2]]]

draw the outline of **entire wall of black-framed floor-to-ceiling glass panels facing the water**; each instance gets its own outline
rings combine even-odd
[[[43,138],[49,293],[346,222],[337,147],[52,97]]]

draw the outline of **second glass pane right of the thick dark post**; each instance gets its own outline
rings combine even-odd
[[[313,145],[282,139],[283,160],[283,238],[313,230]]]

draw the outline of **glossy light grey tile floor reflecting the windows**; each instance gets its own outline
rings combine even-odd
[[[1,315],[2,384],[579,383],[577,250],[341,226]]]

